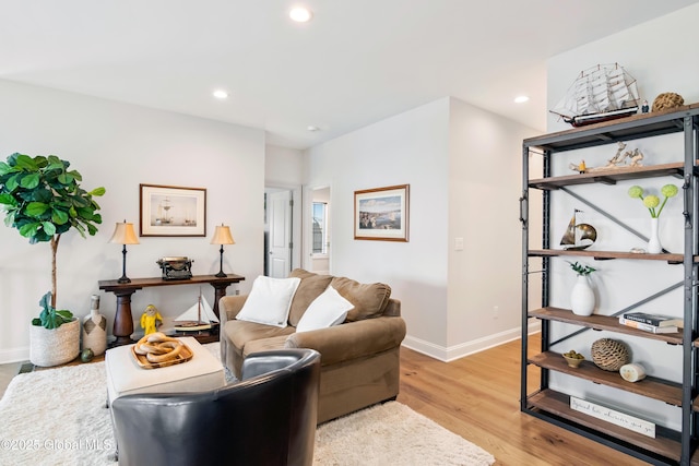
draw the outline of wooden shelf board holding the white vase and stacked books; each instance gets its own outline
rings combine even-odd
[[[672,345],[682,345],[682,333],[650,333],[637,330],[627,325],[621,325],[619,319],[611,315],[576,315],[571,310],[561,308],[542,308],[528,313],[530,318],[545,319],[549,321],[565,322],[573,325],[582,325],[593,330],[606,330],[627,335],[640,336],[649,339],[656,339]]]

